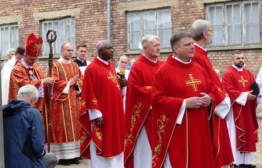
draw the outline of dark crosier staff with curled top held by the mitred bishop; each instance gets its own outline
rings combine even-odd
[[[52,32],[52,34],[51,34]],[[49,34],[51,34],[51,38],[49,39]],[[48,59],[48,67],[49,67],[49,76],[52,77],[52,66],[53,66],[53,47],[52,43],[56,40],[56,31],[48,30],[46,34],[46,40],[50,47],[49,59]],[[48,152],[50,152],[50,137],[51,137],[51,94],[52,94],[52,86],[48,86],[48,135],[47,135],[47,143],[48,143]]]

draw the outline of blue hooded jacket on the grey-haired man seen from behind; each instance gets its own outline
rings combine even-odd
[[[3,122],[5,167],[46,167],[40,111],[26,101],[11,100],[3,106]]]

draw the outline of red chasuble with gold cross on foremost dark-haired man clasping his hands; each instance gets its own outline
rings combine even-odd
[[[214,168],[207,107],[186,109],[176,124],[184,99],[213,96],[204,69],[191,61],[183,64],[169,55],[155,75],[152,89],[152,167],[163,166],[167,151],[172,167]]]

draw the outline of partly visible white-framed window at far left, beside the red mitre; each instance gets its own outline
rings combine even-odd
[[[1,58],[7,57],[7,50],[19,47],[18,25],[0,26]]]

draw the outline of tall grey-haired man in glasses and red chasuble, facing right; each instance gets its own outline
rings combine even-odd
[[[193,35],[195,49],[192,60],[208,72],[208,77],[212,81],[211,83],[216,91],[216,97],[211,107],[213,108],[213,112],[210,116],[211,139],[215,165],[217,168],[225,168],[229,167],[230,164],[232,165],[234,161],[227,124],[224,119],[230,110],[230,99],[223,92],[220,79],[208,58],[206,47],[212,42],[212,33],[213,30],[211,30],[208,21],[196,20],[193,22],[191,34]]]

